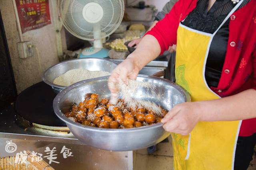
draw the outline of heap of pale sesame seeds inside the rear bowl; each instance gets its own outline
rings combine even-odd
[[[73,69],[55,78],[53,80],[53,83],[58,84],[60,86],[70,86],[71,84],[80,82],[82,80],[109,75],[110,73],[106,71],[89,71],[85,69]]]

